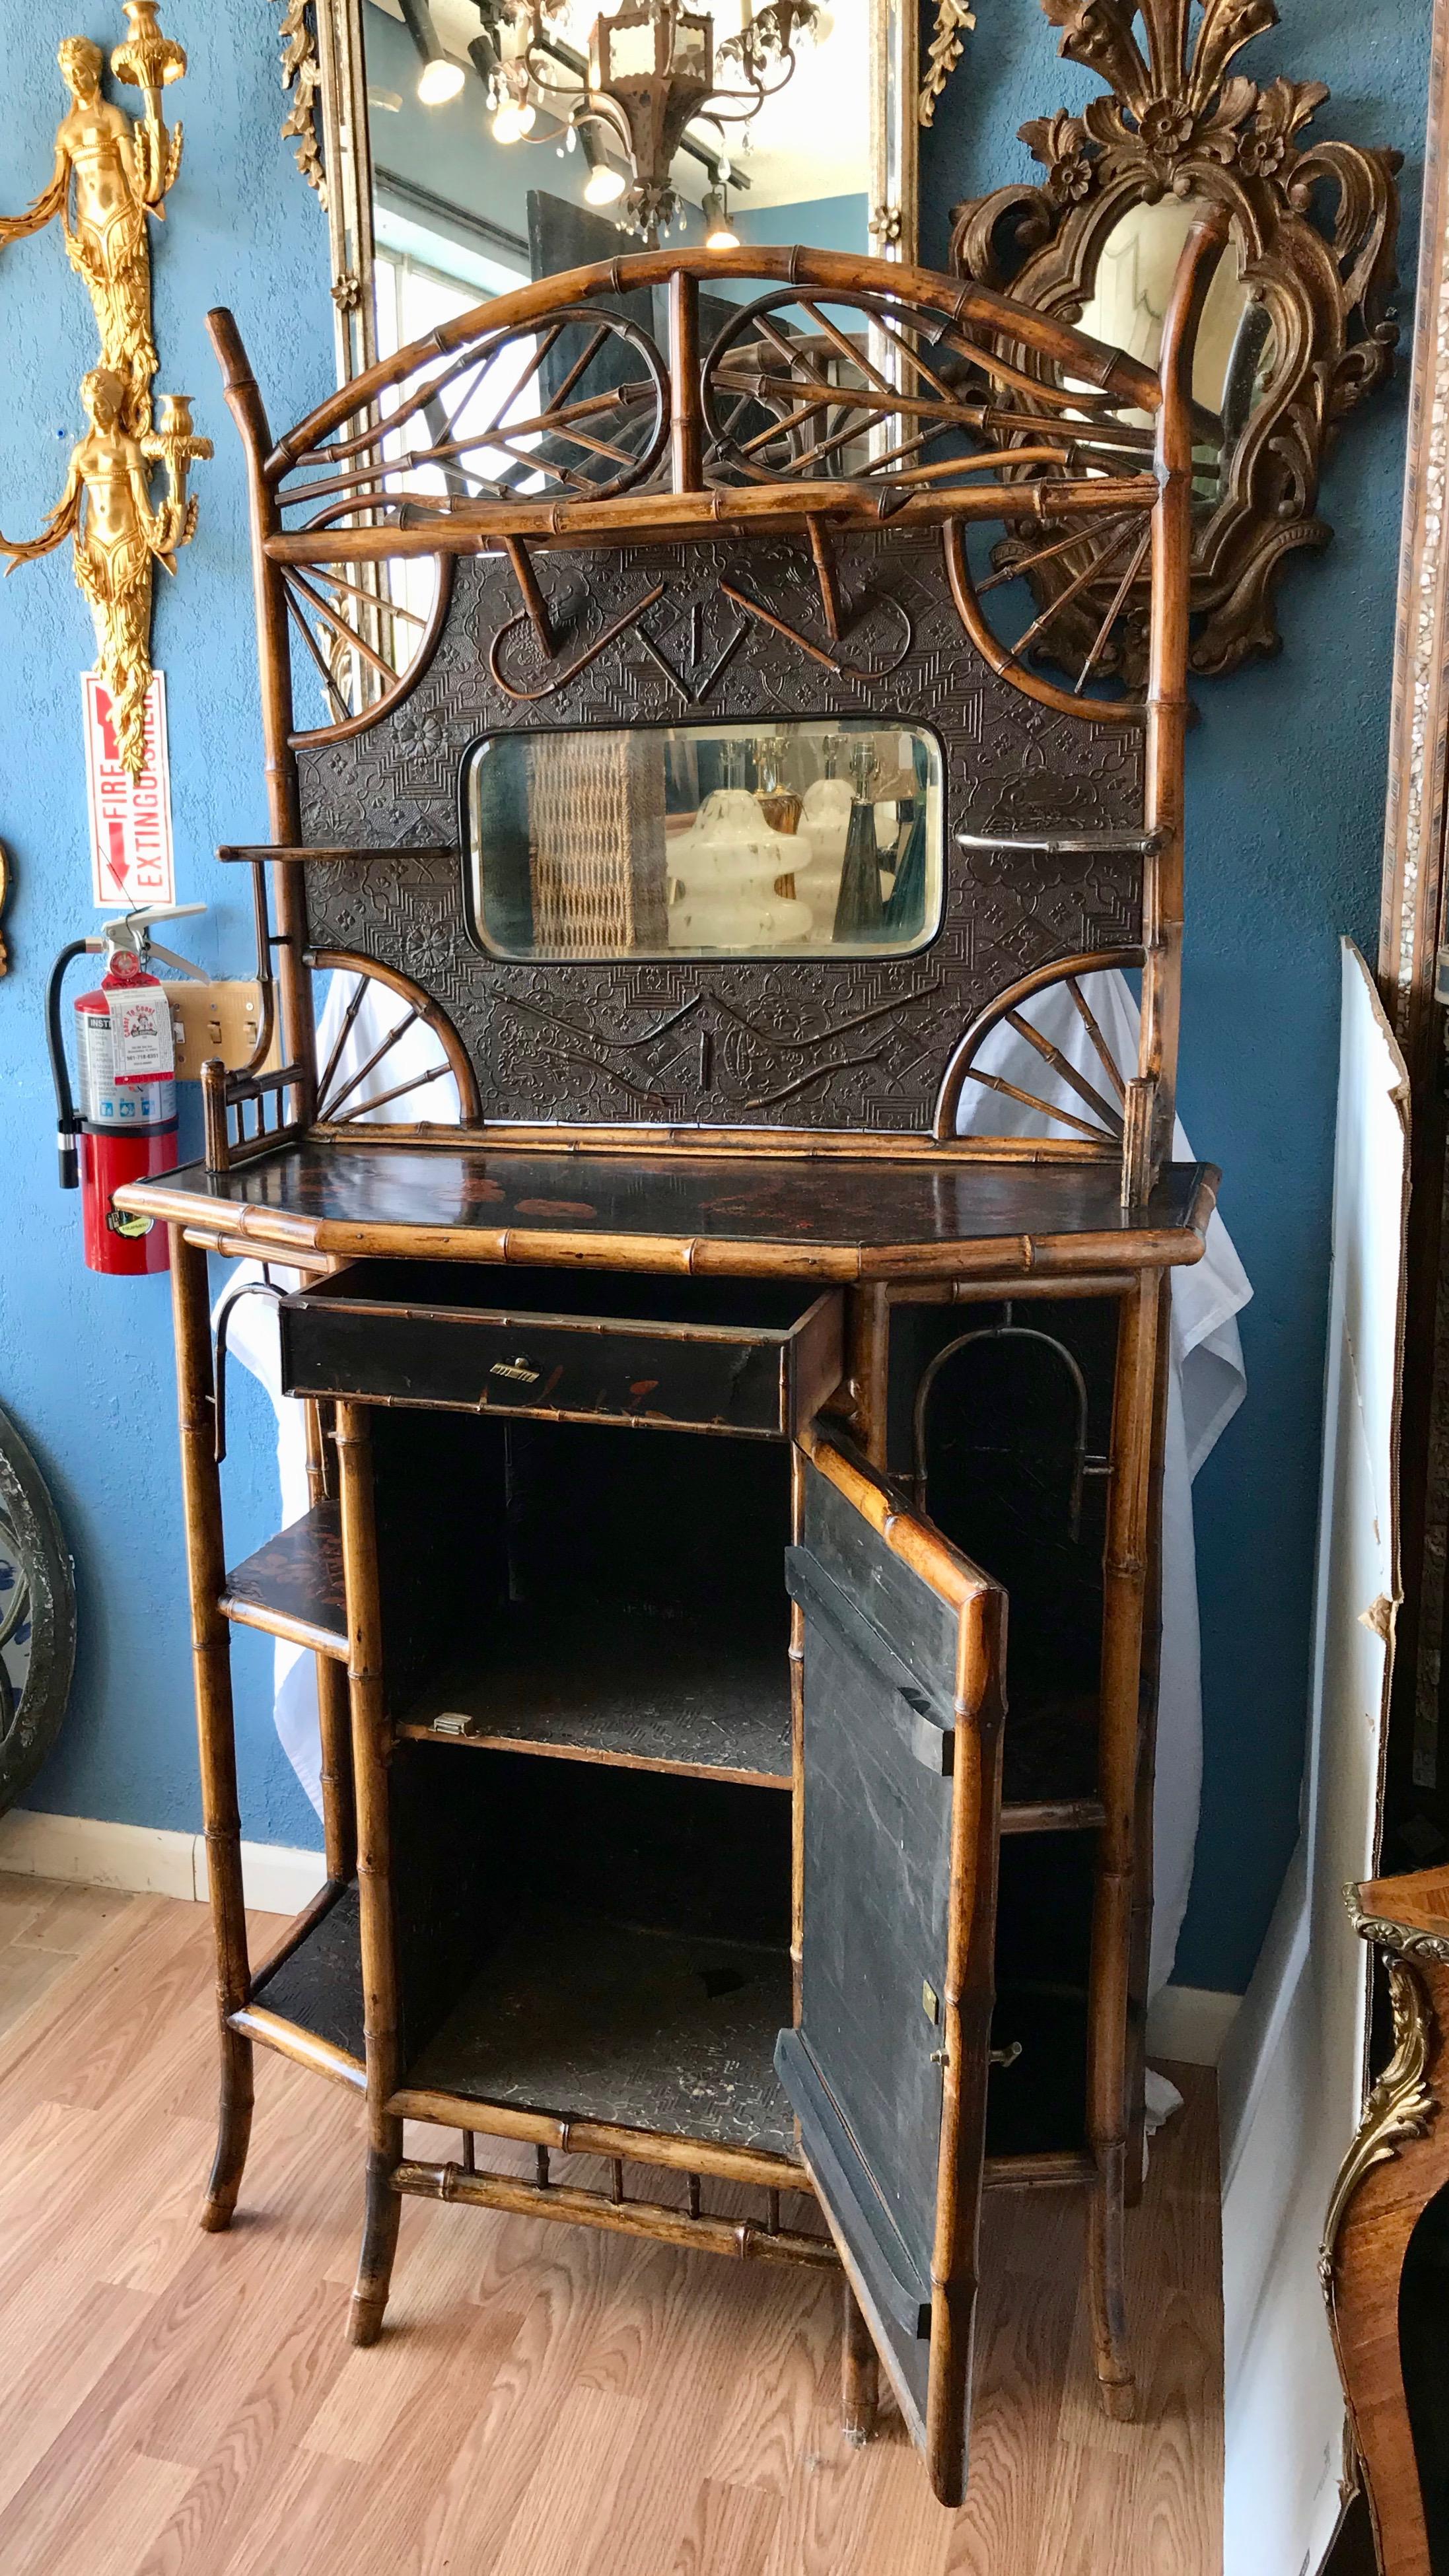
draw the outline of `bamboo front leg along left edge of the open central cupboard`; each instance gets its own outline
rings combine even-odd
[[[348,1682],[358,1826],[361,1971],[366,2035],[366,2221],[348,2316],[353,2344],[376,2344],[392,2280],[402,2202],[392,2177],[402,2164],[402,2120],[384,2112],[397,2092],[397,1942],[387,1801],[387,1716],[382,1705],[382,1615],[371,1510],[371,1430],[364,1404],[338,1404],[343,1486],[343,1579],[348,1595]]]

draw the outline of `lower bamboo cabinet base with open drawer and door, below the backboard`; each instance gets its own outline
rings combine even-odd
[[[990,1172],[993,1236],[882,1252],[905,1275],[848,1291],[820,1283],[846,1257],[848,1172],[797,1164],[812,1239],[735,1244],[722,1275],[683,1267],[696,1234],[673,1273],[606,1267],[629,1247],[578,1213],[549,1247],[567,1267],[516,1273],[462,1242],[438,1262],[436,1229],[400,1252],[397,1164],[428,1159],[356,1141],[150,1185],[173,1224],[219,1950],[204,2223],[237,2202],[253,2043],[278,2048],[366,2102],[356,2342],[379,2334],[413,2192],[841,2262],[846,2419],[864,2437],[879,2352],[949,2496],[980,2195],[1075,2184],[1101,2393],[1127,2414],[1163,1296],[1201,1249],[1214,1175],[1163,1175],[1142,1221],[1116,1216],[1106,1267],[1101,1224],[1060,1231],[1078,1180],[1021,1170],[1003,1206]],[[500,1190],[536,1203],[534,1159],[472,1164],[490,1224]],[[567,1185],[578,1211],[578,1157]],[[364,1190],[384,1260],[356,1244]],[[717,1159],[696,1213],[717,1195],[745,1231],[750,1190],[768,1224],[779,1180]],[[364,1257],[343,1260],[340,1231]],[[206,1247],[237,1239],[309,1267],[281,1316],[315,1504],[227,1569]],[[920,1350],[990,1342],[1006,1311],[1036,1340],[1096,1327],[1101,1654],[1073,1726],[1031,1651],[1006,1716],[1006,1595],[892,1468]],[[232,1623],[312,1646],[322,1721],[327,1888],[255,1965]],[[407,2120],[456,2128],[459,2156],[410,2156]],[[529,2141],[536,2177],[487,2172],[480,2136]],[[603,2184],[570,2159],[606,2159]]]

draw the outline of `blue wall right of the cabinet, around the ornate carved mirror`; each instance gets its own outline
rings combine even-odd
[[[1194,23],[1199,13],[1194,10]],[[1284,0],[1235,70],[1325,80],[1310,134],[1405,152],[1410,270],[1428,0]],[[926,137],[920,255],[949,206],[1039,175],[1016,129],[1101,90],[1057,62],[1031,0],[993,0]],[[1253,1280],[1248,1404],[1196,1484],[1207,1777],[1176,1976],[1243,1989],[1297,1837],[1328,1316],[1338,956],[1377,951],[1403,384],[1351,420],[1323,477],[1336,528],[1281,580],[1284,652],[1196,690],[1181,1113],[1222,1164],[1222,1213]]]

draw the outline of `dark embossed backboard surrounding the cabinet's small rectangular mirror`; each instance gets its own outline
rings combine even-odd
[[[394,966],[441,1002],[477,1069],[485,1118],[928,1133],[946,1056],[985,1002],[1052,958],[1137,945],[1137,855],[954,845],[959,829],[1137,832],[1142,734],[1093,724],[1085,708],[1062,716],[998,680],[962,636],[931,531],[838,538],[841,644],[794,538],[554,549],[536,556],[536,574],[549,659],[508,564],[464,559],[410,696],[369,732],[299,752],[302,837],[394,853],[366,868],[309,868],[315,945]],[[936,940],[879,961],[485,956],[469,935],[462,848],[407,855],[407,842],[462,842],[469,744],[503,729],[694,714],[928,724],[946,804]]]

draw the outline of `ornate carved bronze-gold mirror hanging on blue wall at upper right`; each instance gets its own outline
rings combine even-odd
[[[1042,0],[1060,52],[1106,82],[1080,116],[1021,126],[1044,180],[954,209],[959,276],[1000,286],[1155,363],[1173,263],[1196,214],[1222,204],[1232,247],[1196,348],[1199,477],[1191,667],[1235,670],[1279,649],[1281,562],[1330,536],[1318,515],[1325,443],[1392,371],[1400,152],[1305,139],[1320,80],[1266,88],[1230,64],[1276,26],[1274,0]],[[1026,366],[1031,366],[1026,355]],[[1018,438],[1029,438],[1024,428]],[[1039,536],[1008,536],[998,572]],[[1124,531],[1026,574],[1052,608],[1042,652],[1080,667],[1127,577],[1116,667],[1140,672],[1147,574]]]

